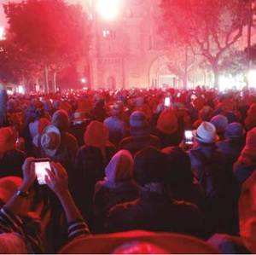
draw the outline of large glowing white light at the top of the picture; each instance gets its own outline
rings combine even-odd
[[[104,20],[114,20],[119,15],[120,0],[98,0],[96,11]]]

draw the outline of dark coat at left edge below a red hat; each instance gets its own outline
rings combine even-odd
[[[20,150],[11,150],[0,159],[0,177],[22,177],[22,165],[26,155]]]

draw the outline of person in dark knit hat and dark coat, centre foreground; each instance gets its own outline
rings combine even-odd
[[[134,178],[140,189],[137,200],[113,206],[106,231],[144,229],[204,235],[203,217],[197,206],[173,200],[165,185],[166,156],[153,147],[139,151],[134,160]]]

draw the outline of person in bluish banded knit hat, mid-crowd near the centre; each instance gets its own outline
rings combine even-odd
[[[125,137],[119,143],[119,149],[126,149],[131,154],[136,154],[139,150],[148,146],[160,148],[160,139],[150,135],[148,120],[143,112],[135,111],[130,116],[131,136]]]

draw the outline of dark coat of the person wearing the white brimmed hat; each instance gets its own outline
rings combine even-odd
[[[234,175],[214,144],[189,151],[192,170],[207,195],[207,220],[212,231],[237,231],[237,186]]]

